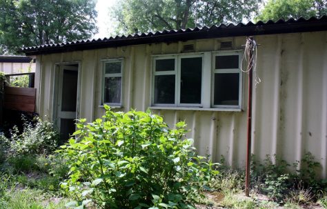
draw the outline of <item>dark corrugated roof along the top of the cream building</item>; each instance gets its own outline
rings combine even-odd
[[[257,23],[248,22],[232,23],[226,25],[203,28],[187,28],[179,30],[163,30],[157,32],[142,32],[137,34],[122,35],[104,39],[85,39],[79,41],[68,41],[65,43],[53,43],[41,46],[22,48],[20,52],[27,55],[49,54],[56,52],[67,52],[73,50],[91,50],[95,48],[108,48],[117,46],[128,46],[145,43],[186,41],[191,39],[210,39],[215,37],[232,37],[258,34],[277,34],[290,32],[310,32],[327,30],[327,16],[320,18],[311,17],[310,19],[288,19],[284,21],[258,21]]]

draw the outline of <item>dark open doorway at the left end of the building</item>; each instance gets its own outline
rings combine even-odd
[[[54,122],[60,132],[60,143],[65,143],[75,132],[78,117],[79,64],[56,66],[56,94],[54,94]]]

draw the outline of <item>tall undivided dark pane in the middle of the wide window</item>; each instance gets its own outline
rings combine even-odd
[[[202,58],[181,59],[180,103],[201,103]]]

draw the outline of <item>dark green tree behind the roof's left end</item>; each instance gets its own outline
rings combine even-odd
[[[97,32],[95,0],[0,0],[0,53],[87,39]]]

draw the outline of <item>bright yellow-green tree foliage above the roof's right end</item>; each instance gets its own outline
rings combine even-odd
[[[257,21],[321,17],[327,14],[327,0],[269,0],[259,12]]]

